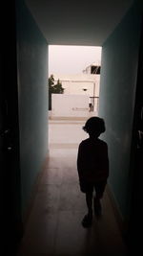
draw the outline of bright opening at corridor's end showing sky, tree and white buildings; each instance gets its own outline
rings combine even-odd
[[[94,46],[49,46],[50,144],[51,137],[52,144],[65,141],[75,145],[87,136],[82,125],[98,115],[101,51]],[[69,124],[69,134],[60,132],[62,126],[57,128],[55,123]]]

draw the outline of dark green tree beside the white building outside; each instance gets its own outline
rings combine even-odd
[[[58,80],[56,84],[54,84],[53,75],[49,78],[49,110],[51,110],[51,94],[52,93],[64,93],[64,88],[62,87],[62,83]]]

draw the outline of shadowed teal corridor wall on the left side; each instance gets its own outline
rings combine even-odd
[[[18,101],[23,213],[48,150],[48,45],[23,1],[17,4]]]

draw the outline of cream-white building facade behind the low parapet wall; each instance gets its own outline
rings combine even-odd
[[[91,64],[82,74],[53,74],[54,82],[62,83],[66,95],[86,95],[89,111],[97,111],[99,104],[100,65]]]

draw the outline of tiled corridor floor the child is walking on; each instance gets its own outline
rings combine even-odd
[[[83,228],[87,212],[76,171],[77,147],[53,145],[18,256],[127,255],[107,193],[103,215]]]

